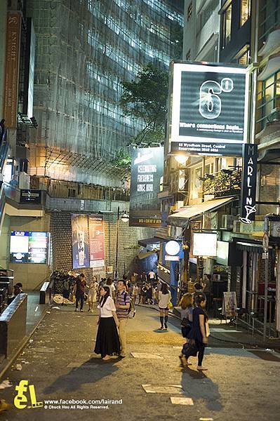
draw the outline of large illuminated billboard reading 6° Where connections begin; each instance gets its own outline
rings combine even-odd
[[[244,67],[173,63],[169,152],[241,156],[247,114]]]

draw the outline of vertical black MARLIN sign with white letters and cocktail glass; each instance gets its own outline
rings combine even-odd
[[[255,220],[255,192],[257,182],[258,145],[243,145],[243,173],[241,186],[241,222]]]

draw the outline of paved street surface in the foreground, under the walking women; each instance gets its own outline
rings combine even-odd
[[[129,354],[108,362],[93,354],[96,310],[91,314],[76,313],[69,306],[51,309],[16,361],[22,370],[7,373],[12,387],[1,391],[3,398],[13,403],[15,386],[20,380],[29,380],[44,407],[13,407],[4,420],[199,421],[210,417],[214,421],[262,421],[265,416],[278,421],[279,403],[272,396],[280,393],[279,354],[259,351],[256,355],[255,350],[240,345],[217,347],[211,342],[205,357],[207,372],[196,370],[194,358],[190,368],[182,369],[178,359],[183,342],[180,321],[173,318],[168,332],[159,332],[154,309],[136,309],[135,319],[128,321],[128,349],[141,358]],[[159,393],[147,393],[144,387],[154,387]],[[187,398],[190,400],[184,402],[193,404],[174,404],[171,398],[173,402]],[[60,399],[122,399],[122,403],[109,403],[107,409],[81,405],[81,410],[62,407]]]

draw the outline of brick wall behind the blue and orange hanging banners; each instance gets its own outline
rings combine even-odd
[[[115,265],[116,259],[116,213],[105,213],[105,265]],[[53,269],[68,271],[72,269],[72,227],[71,213],[52,212],[50,230],[52,236]],[[128,272],[131,263],[140,248],[138,240],[154,236],[154,229],[129,227],[128,222],[119,220],[119,248],[118,248],[118,269],[119,275],[124,273],[124,265]],[[92,276],[92,269],[79,269]],[[103,271],[95,272],[105,276]]]

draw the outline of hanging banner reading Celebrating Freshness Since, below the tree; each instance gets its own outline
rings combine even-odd
[[[131,163],[131,227],[160,227],[161,205],[157,194],[164,175],[164,148],[135,149]]]

